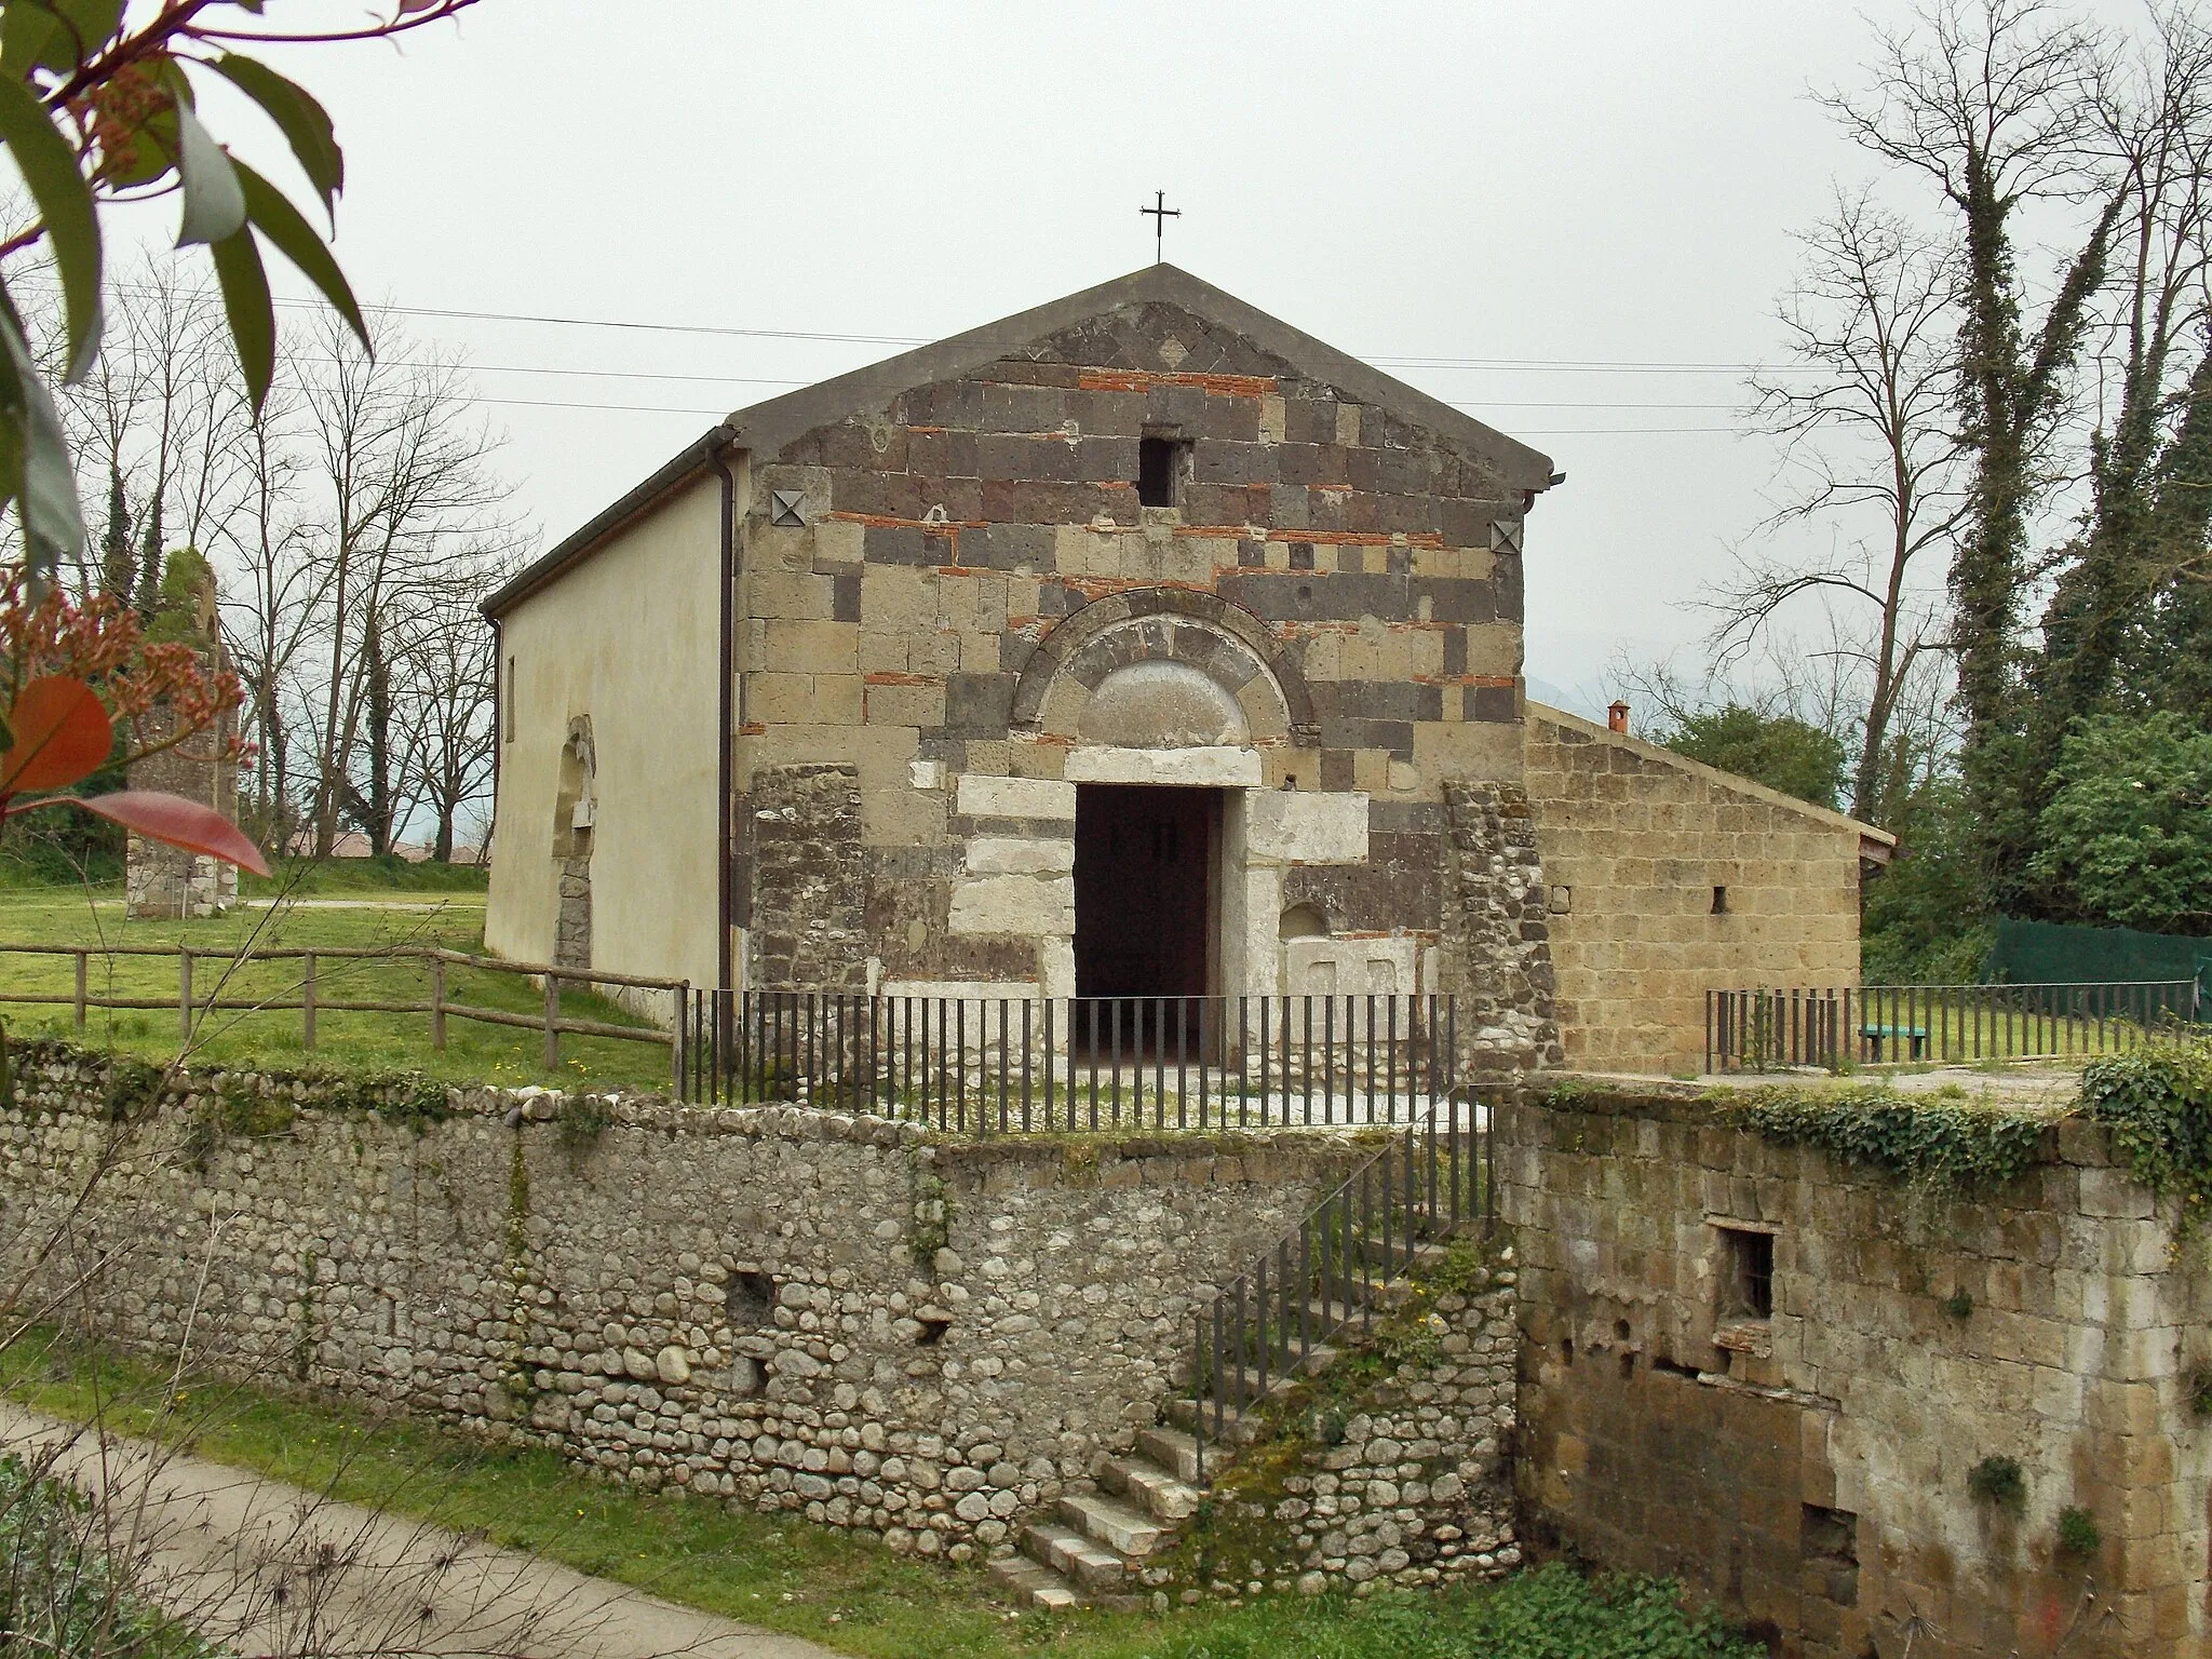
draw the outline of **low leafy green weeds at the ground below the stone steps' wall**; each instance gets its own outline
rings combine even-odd
[[[1551,1564],[1449,1597],[1263,1601],[1177,1635],[1152,1659],[1765,1659],[1668,1579],[1584,1579]]]

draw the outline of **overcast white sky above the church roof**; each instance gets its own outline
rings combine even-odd
[[[338,122],[358,292],[407,307],[938,338],[1150,261],[1164,188],[1199,276],[1387,365],[1489,365],[1389,367],[1568,473],[1528,526],[1528,675],[1588,706],[1617,650],[1703,630],[1681,602],[1765,513],[1741,365],[1776,347],[1792,230],[1867,177],[1807,88],[1905,15],[482,0],[285,69]],[[407,323],[476,365],[546,542],[719,414],[900,349]]]

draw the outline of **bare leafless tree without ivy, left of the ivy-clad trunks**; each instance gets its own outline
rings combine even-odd
[[[1796,599],[1863,613],[1832,630],[1865,675],[1854,721],[1851,812],[1880,821],[1891,726],[1942,619],[1920,580],[1964,513],[1953,436],[1953,268],[1942,246],[1845,197],[1805,237],[1805,263],[1781,305],[1790,367],[1752,380],[1756,418],[1785,447],[1790,498],[1763,526],[1840,520],[1825,557],[1745,555],[1703,599],[1728,666]]]

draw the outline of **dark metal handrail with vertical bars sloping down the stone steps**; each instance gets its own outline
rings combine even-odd
[[[1473,1108],[1464,1146],[1462,1108]],[[1206,1480],[1208,1405],[1219,1444],[1230,1416],[1241,1418],[1248,1405],[1267,1398],[1270,1371],[1283,1380],[1354,1321],[1369,1325],[1380,1287],[1413,1265],[1425,1241],[1464,1221],[1480,1221],[1484,1237],[1493,1232],[1491,1133],[1475,1121],[1475,1110],[1460,1088],[1429,1102],[1192,1314],[1190,1436],[1199,1482]],[[1438,1113],[1444,1113],[1442,1135]]]

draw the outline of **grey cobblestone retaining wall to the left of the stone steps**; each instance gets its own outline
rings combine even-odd
[[[1349,1137],[1035,1137],[18,1048],[0,1265],[102,1340],[971,1559],[1155,1422]],[[73,1206],[100,1175],[88,1203]],[[71,1292],[71,1285],[82,1287]]]

